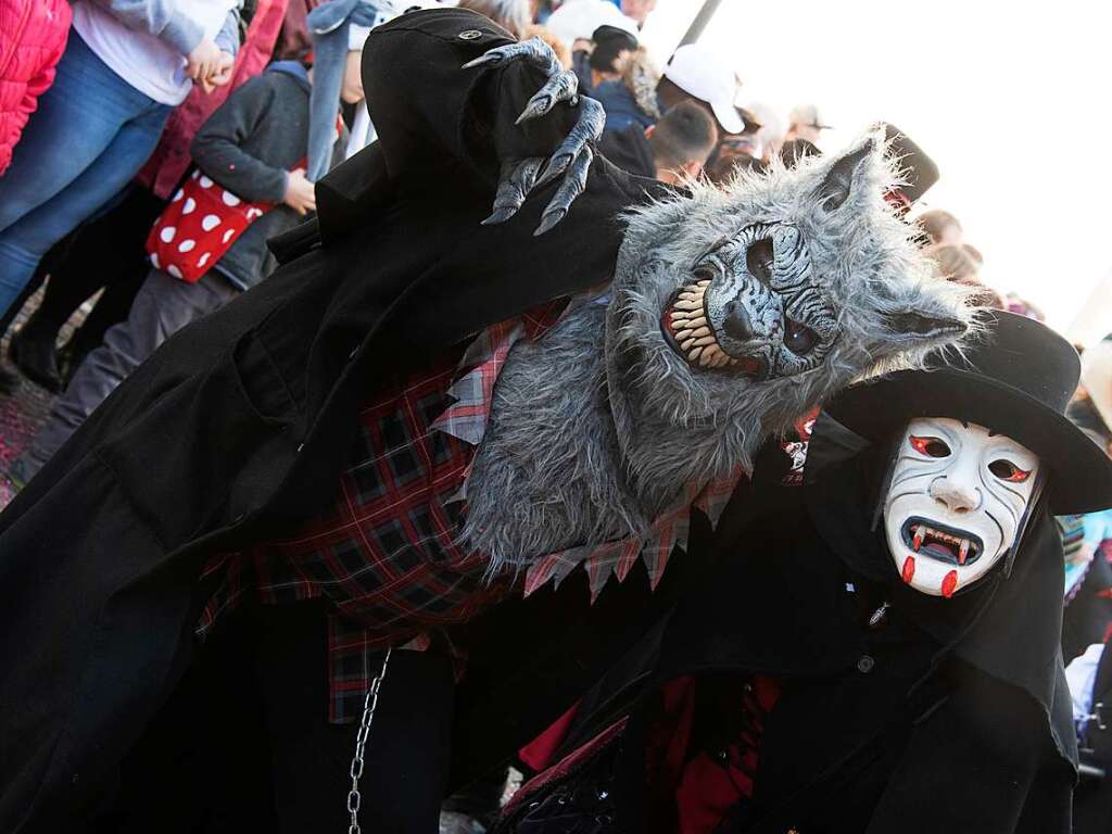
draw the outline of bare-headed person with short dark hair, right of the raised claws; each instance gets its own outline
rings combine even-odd
[[[717,131],[714,119],[698,105],[685,101],[645,129],[631,126],[605,133],[599,150],[618,168],[662,182],[682,183],[703,171]]]

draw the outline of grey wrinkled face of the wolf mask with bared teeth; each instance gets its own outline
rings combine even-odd
[[[835,318],[798,230],[753,224],[718,241],[665,306],[668,346],[692,366],[757,380],[816,367]]]

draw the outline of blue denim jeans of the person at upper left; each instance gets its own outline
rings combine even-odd
[[[139,171],[171,109],[117,76],[70,31],[54,83],[0,177],[0,315],[47,250]]]

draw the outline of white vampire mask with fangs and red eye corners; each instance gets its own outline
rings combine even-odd
[[[1039,458],[1005,435],[947,417],[912,420],[884,500],[888,550],[903,580],[950,597],[1015,544]]]

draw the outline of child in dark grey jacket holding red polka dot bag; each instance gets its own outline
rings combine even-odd
[[[353,39],[356,42],[358,48],[353,51],[361,50],[361,40]],[[359,61],[346,66],[340,97],[355,103],[363,98]],[[136,296],[128,319],[111,328],[103,344],[88,356],[66,393],[56,400],[42,430],[14,461],[9,473],[12,487],[21,487],[37,473],[116,386],[173,332],[224,306],[269,274],[272,262],[267,239],[316,209],[314,187],[304,168],[311,82],[312,70],[295,61],[278,61],[236,90],[198,132],[191,148],[197,162],[192,181],[197,185],[191,188],[222,187],[222,200],[228,206],[275,203],[275,208],[247,226],[196,284],[176,277],[181,275],[181,267],[152,258],[156,268]],[[337,145],[337,151],[341,149],[342,143]],[[179,200],[183,203],[176,208]],[[181,212],[183,218],[193,211],[201,216],[202,210],[193,209],[190,200],[179,192],[168,211]],[[207,215],[201,228],[219,239],[227,221]],[[209,266],[201,262],[205,246],[165,224],[156,229],[162,241],[173,244],[171,249],[180,250],[200,267]]]

